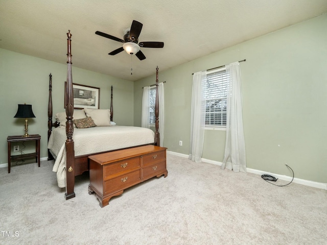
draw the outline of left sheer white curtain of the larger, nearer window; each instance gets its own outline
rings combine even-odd
[[[201,162],[205,126],[206,71],[193,75],[189,159]]]

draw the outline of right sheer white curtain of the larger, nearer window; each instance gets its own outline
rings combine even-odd
[[[246,173],[240,63],[226,65],[228,80],[226,144],[222,169]]]

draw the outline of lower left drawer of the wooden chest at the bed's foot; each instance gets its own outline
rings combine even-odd
[[[127,174],[109,179],[104,182],[104,194],[115,190],[128,188],[141,180],[140,170],[135,170]]]

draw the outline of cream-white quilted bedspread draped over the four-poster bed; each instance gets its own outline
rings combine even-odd
[[[48,149],[56,155],[53,171],[57,172],[59,187],[66,186],[65,127],[58,127],[51,133]],[[94,127],[88,129],[74,128],[75,156],[111,151],[135,145],[154,142],[151,129],[131,126]]]

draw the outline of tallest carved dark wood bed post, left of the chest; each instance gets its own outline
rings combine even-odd
[[[65,199],[75,198],[75,151],[74,151],[74,96],[73,96],[73,78],[72,78],[72,52],[71,52],[71,31],[67,33],[67,86],[66,86],[66,193]]]

